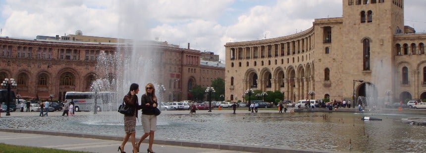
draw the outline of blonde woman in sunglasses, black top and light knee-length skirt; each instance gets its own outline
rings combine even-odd
[[[138,143],[136,144],[137,151],[139,152],[139,147],[145,138],[150,136],[148,143],[148,153],[153,152],[153,143],[154,143],[154,133],[157,130],[157,116],[154,115],[154,108],[157,107],[157,97],[156,89],[154,88],[153,83],[148,83],[145,86],[145,94],[141,97],[141,107],[142,108],[142,126],[144,128],[145,134],[141,136]]]

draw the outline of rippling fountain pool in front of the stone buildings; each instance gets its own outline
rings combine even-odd
[[[343,152],[426,152],[426,126],[383,114],[364,121],[354,113],[161,114],[156,138]],[[117,117],[118,116],[118,117]],[[112,118],[112,119],[111,119]],[[110,121],[114,120],[114,121]],[[139,119],[140,120],[140,119]],[[122,116],[2,117],[0,127],[122,136]],[[143,133],[140,122],[136,135]]]

